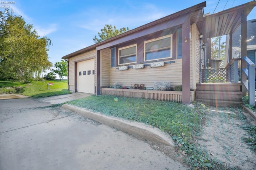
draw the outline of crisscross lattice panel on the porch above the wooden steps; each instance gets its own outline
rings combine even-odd
[[[202,70],[202,82],[226,82],[226,69],[207,68]]]

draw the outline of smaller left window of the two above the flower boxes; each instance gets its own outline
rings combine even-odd
[[[118,49],[118,65],[136,63],[137,44]]]

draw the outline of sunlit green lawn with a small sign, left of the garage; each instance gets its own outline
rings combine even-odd
[[[49,86],[47,90],[47,82],[53,83],[53,86]],[[44,80],[34,81],[24,88],[23,95],[33,98],[57,96],[63,94],[70,94],[68,91],[67,80]]]

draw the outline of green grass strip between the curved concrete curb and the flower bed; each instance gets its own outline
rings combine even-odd
[[[90,96],[71,101],[69,104],[158,127],[172,136],[180,149],[188,154],[186,162],[191,168],[225,168],[224,164],[211,160],[208,153],[194,142],[202,131],[204,115],[207,111],[202,104],[196,103],[195,108],[192,108],[174,102],[105,95]]]

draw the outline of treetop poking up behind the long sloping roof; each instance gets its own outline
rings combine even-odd
[[[99,38],[95,35],[93,38],[94,43],[99,43],[101,41],[104,41],[106,39],[110,39],[111,37],[114,37],[116,35],[119,35],[121,33],[124,33],[126,31],[129,31],[130,29],[128,27],[122,27],[120,29],[116,29],[116,26],[114,28],[112,25],[106,24],[104,28],[100,29],[101,33],[98,32]]]

